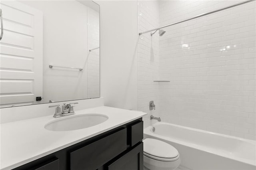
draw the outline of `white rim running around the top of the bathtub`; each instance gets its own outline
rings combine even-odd
[[[175,125],[175,124],[172,124],[172,123],[165,123],[165,122],[156,122],[153,125],[150,125],[149,127],[144,128],[144,134],[146,134],[148,136],[156,136],[157,138],[162,138],[164,140],[168,140],[168,141],[171,141],[171,142],[174,142],[174,143],[182,144],[182,145],[187,146],[187,147],[192,147],[192,148],[195,148],[197,150],[203,150],[204,152],[208,152],[208,153],[211,153],[211,154],[222,156],[224,158],[229,158],[229,159],[232,159],[232,160],[236,160],[236,161],[242,162],[244,164],[250,164],[252,166],[256,166],[256,162],[253,162],[253,160],[248,160],[248,159],[245,159],[245,158],[238,158],[236,156],[230,156],[230,155],[220,154],[218,152],[212,152],[212,151],[209,151],[209,150],[204,150],[204,148],[207,148],[207,147],[203,147],[203,146],[195,145],[195,144],[190,144],[190,143],[184,142],[182,140],[172,139],[171,137],[156,134],[156,133],[151,131],[151,129],[154,127],[154,125],[170,125],[170,126],[174,126],[174,127],[178,127],[178,128],[184,128],[184,129],[193,130],[193,131],[197,131],[197,132],[202,132],[202,133],[206,133],[206,134],[215,134],[217,136],[232,138],[232,139],[235,139],[235,140],[249,142],[251,144],[256,145],[255,140],[249,140],[249,139],[245,139],[245,138],[239,138],[239,137],[236,137],[236,136],[230,136],[230,135],[226,135],[226,134],[220,134],[220,133],[216,133],[216,132],[210,132],[210,131],[206,131],[206,130],[191,128],[191,127],[184,127],[184,126],[181,126],[181,125]]]

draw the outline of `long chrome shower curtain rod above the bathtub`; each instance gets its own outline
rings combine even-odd
[[[228,8],[232,8],[232,7],[235,7],[235,6],[238,6],[238,5],[242,5],[242,4],[245,4],[245,3],[248,3],[248,2],[252,2],[252,1],[255,1],[255,0],[246,0],[246,1],[243,1],[243,2],[239,2],[237,4],[233,4],[233,5],[230,5],[230,6],[226,6],[226,7],[223,7],[223,8],[219,8],[217,10],[213,10],[213,11],[210,11],[210,12],[206,12],[206,13],[203,13],[203,14],[200,14],[200,15],[197,15],[197,16],[194,16],[192,18],[188,18],[188,19],[185,19],[185,20],[181,20],[181,21],[178,21],[178,22],[174,22],[172,24],[168,24],[166,26],[162,26],[162,27],[159,27],[159,28],[155,28],[155,29],[152,29],[152,30],[148,30],[148,31],[145,31],[145,32],[140,32],[139,35],[142,35],[142,34],[145,34],[147,32],[152,32],[152,31],[155,31],[155,30],[159,30],[159,29],[162,29],[162,28],[166,28],[168,26],[173,26],[173,25],[176,25],[176,24],[179,24],[179,23],[182,23],[182,22],[185,22],[185,21],[189,21],[189,20],[193,20],[195,18],[199,18],[201,16],[206,16],[208,14],[213,14],[215,12],[219,12],[219,11],[222,11],[222,10],[226,10]]]

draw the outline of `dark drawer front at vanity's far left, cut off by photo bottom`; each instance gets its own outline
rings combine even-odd
[[[53,158],[28,170],[59,170],[59,159]]]

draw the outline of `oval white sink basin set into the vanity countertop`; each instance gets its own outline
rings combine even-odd
[[[78,130],[82,128],[88,128],[108,120],[106,115],[100,114],[84,114],[84,115],[73,115],[62,118],[56,118],[59,120],[47,123],[44,128],[52,131],[68,131]]]

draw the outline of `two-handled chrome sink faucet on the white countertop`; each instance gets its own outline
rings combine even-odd
[[[68,116],[68,115],[74,115],[74,108],[75,105],[74,104],[78,104],[76,103],[69,103],[66,105],[66,103],[63,103],[62,105],[62,111],[60,111],[60,105],[52,105],[49,107],[56,107],[55,109],[55,113],[53,115],[53,117],[57,118],[57,117],[63,117],[63,116]]]

